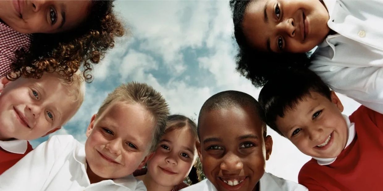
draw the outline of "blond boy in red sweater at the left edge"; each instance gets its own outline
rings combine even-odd
[[[80,72],[69,82],[57,73],[41,79],[0,78],[0,174],[32,150],[28,140],[59,130],[80,108]]]

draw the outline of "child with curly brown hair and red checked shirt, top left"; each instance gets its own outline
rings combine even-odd
[[[113,1],[0,1],[0,77],[70,77],[83,66],[92,81],[97,64],[124,29]]]

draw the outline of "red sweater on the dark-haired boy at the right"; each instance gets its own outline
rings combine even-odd
[[[355,138],[330,165],[311,159],[298,175],[309,191],[383,190],[383,115],[360,106],[349,117]]]

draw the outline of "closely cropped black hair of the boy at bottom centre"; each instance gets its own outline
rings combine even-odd
[[[200,114],[198,115],[198,137],[200,137],[200,119],[205,114],[205,112],[231,107],[253,108],[255,112],[258,113],[260,120],[262,121],[262,130],[264,137],[266,137],[266,123],[262,120],[263,118],[260,115],[262,112],[262,108],[260,107],[258,101],[249,94],[234,90],[219,92],[217,94],[212,95],[208,100],[205,101],[205,103],[201,107]]]

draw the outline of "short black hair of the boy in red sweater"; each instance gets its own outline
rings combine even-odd
[[[317,92],[331,100],[331,90],[313,71],[307,68],[290,69],[280,76],[270,79],[259,93],[259,104],[263,117],[270,128],[284,136],[277,128],[275,120],[283,117],[286,110],[293,110],[296,105]]]

